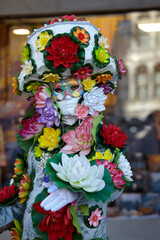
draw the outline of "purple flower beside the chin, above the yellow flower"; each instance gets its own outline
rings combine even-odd
[[[43,108],[37,108],[37,112],[41,114],[39,117],[39,123],[46,123],[48,128],[55,124],[59,126],[59,113],[57,109],[53,106],[53,101],[50,98],[46,99],[46,105]]]

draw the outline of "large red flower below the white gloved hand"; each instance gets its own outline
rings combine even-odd
[[[46,216],[42,219],[38,228],[42,232],[48,232],[49,240],[58,240],[64,237],[65,240],[71,240],[75,227],[72,224],[72,215],[70,206],[66,205],[56,212],[45,211],[40,206],[41,202],[35,203],[33,208]]]

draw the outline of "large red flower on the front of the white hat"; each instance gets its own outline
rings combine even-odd
[[[69,36],[62,36],[60,38],[54,37],[51,46],[46,47],[46,51],[50,53],[46,59],[54,62],[54,68],[60,65],[71,68],[72,63],[79,62],[76,56],[78,47],[79,44],[71,41]]]

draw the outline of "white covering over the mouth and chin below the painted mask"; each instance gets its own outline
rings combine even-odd
[[[64,116],[74,116],[75,115],[75,108],[78,105],[78,101],[80,97],[73,98],[71,96],[66,96],[65,100],[58,101],[57,105],[61,110],[61,114]]]

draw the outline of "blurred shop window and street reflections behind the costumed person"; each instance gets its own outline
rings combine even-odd
[[[19,148],[16,134],[29,108],[12,93],[27,35],[55,16],[76,14],[100,28],[127,74],[109,95],[107,123],[127,133],[134,181],[108,208],[110,240],[159,239],[160,2],[158,0],[0,0],[0,187],[8,184]],[[10,239],[9,234],[0,239]],[[118,237],[117,237],[118,236]]]

